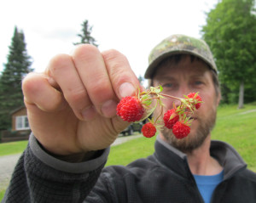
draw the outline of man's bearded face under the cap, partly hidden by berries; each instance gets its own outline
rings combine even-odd
[[[189,153],[197,149],[210,135],[216,120],[219,95],[216,95],[212,82],[212,73],[207,65],[201,60],[195,59],[191,62],[189,55],[184,57],[178,64],[167,63],[161,65],[153,78],[154,86],[161,85],[163,93],[183,98],[188,93],[199,92],[202,101],[201,108],[195,110],[192,116],[194,121],[188,137],[177,139],[172,130],[163,127],[160,132],[166,142],[183,152]],[[163,99],[166,110],[173,108],[173,103],[179,105],[177,99]],[[166,110],[164,112],[166,112]],[[159,116],[160,109],[154,116]]]

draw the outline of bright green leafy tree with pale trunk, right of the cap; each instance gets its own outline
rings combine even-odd
[[[203,38],[216,59],[223,89],[230,93],[225,95],[226,99],[239,98],[238,108],[243,107],[244,97],[247,99],[248,94],[253,94],[247,93],[247,87],[255,84],[256,17],[253,5],[254,0],[223,0],[207,14],[207,25],[202,28]]]

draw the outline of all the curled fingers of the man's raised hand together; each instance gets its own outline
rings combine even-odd
[[[98,114],[115,116],[119,99],[134,94],[139,82],[123,54],[80,45],[72,56],[51,59],[45,76],[27,76],[23,86],[26,102],[54,110],[65,100],[80,120],[88,121]]]

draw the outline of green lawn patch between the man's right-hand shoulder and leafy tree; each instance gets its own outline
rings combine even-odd
[[[247,104],[241,110],[236,105],[220,107],[212,139],[231,144],[248,168],[256,172],[256,103]]]

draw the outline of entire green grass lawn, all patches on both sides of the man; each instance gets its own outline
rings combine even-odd
[[[224,105],[218,108],[216,127],[212,139],[231,144],[247,162],[248,168],[256,172],[256,103],[246,104],[237,110],[237,105]],[[107,166],[127,165],[138,158],[154,152],[154,138],[135,138],[125,144],[113,146],[108,156]],[[0,144],[0,155],[22,152],[27,141]],[[0,191],[0,200],[4,191]]]

